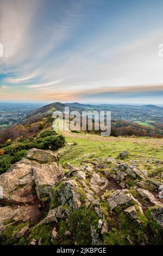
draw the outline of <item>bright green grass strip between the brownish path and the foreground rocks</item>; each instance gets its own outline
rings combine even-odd
[[[155,159],[162,158],[163,141],[160,139],[158,144],[155,139],[135,138],[126,139],[110,137],[110,141],[91,139],[91,136],[85,138],[68,137],[66,142],[74,142],[76,145],[65,146],[58,151],[62,164],[70,162],[79,165],[85,159],[117,157],[124,150],[129,151],[127,159],[133,160],[133,157],[141,159],[142,157]]]

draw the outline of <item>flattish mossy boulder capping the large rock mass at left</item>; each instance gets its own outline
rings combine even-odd
[[[27,157],[40,163],[58,162],[59,156],[51,150],[30,149]]]

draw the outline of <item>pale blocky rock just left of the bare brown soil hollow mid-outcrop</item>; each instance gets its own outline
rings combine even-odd
[[[99,176],[99,174],[97,173],[93,173],[92,178],[90,180],[90,187],[96,194],[98,194],[99,192],[104,192],[108,184],[108,180]]]

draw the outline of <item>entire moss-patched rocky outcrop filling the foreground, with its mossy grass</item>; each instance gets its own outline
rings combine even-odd
[[[162,183],[122,159],[87,159],[64,169],[52,151],[29,150],[0,175],[0,244],[105,245],[122,236],[134,244],[138,229],[145,234],[137,241],[150,244],[151,221],[163,225]]]

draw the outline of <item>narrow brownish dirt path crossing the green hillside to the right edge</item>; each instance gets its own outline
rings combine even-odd
[[[120,141],[126,141],[126,142],[140,142],[140,143],[152,143],[153,145],[158,145],[159,147],[163,146],[163,139],[157,139],[157,138],[131,138],[131,137],[104,137],[99,135],[82,135],[79,133],[69,132],[69,131],[62,131],[62,135],[73,137],[73,138],[83,138],[83,139],[90,139],[91,141],[114,141],[114,142],[120,142]]]

